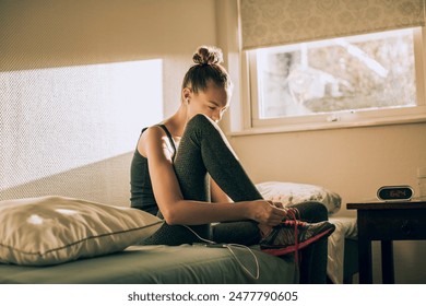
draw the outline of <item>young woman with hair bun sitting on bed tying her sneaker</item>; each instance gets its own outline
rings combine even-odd
[[[327,240],[320,238],[334,231],[326,208],[283,209],[262,199],[217,126],[233,90],[222,50],[202,46],[193,61],[179,108],[142,130],[133,155],[131,205],[165,220],[146,243],[260,244],[280,256],[318,242],[301,254],[300,282],[324,282],[313,274],[326,275]],[[296,214],[310,223],[295,221]]]

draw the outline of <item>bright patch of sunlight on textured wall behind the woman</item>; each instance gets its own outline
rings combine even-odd
[[[163,119],[162,60],[0,72],[0,190],[134,150]]]

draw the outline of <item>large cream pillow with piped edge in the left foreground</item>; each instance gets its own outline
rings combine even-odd
[[[0,262],[46,266],[116,252],[162,224],[141,210],[72,198],[0,201]]]

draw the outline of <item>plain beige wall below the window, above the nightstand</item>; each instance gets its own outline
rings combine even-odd
[[[322,185],[338,191],[343,203],[374,200],[384,185],[411,185],[418,193],[417,167],[426,165],[425,123],[230,139],[256,181]]]

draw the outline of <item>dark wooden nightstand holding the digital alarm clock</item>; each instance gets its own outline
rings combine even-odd
[[[394,283],[392,240],[426,239],[426,201],[347,203],[357,210],[359,283],[372,283],[371,242],[381,242],[381,273]]]

